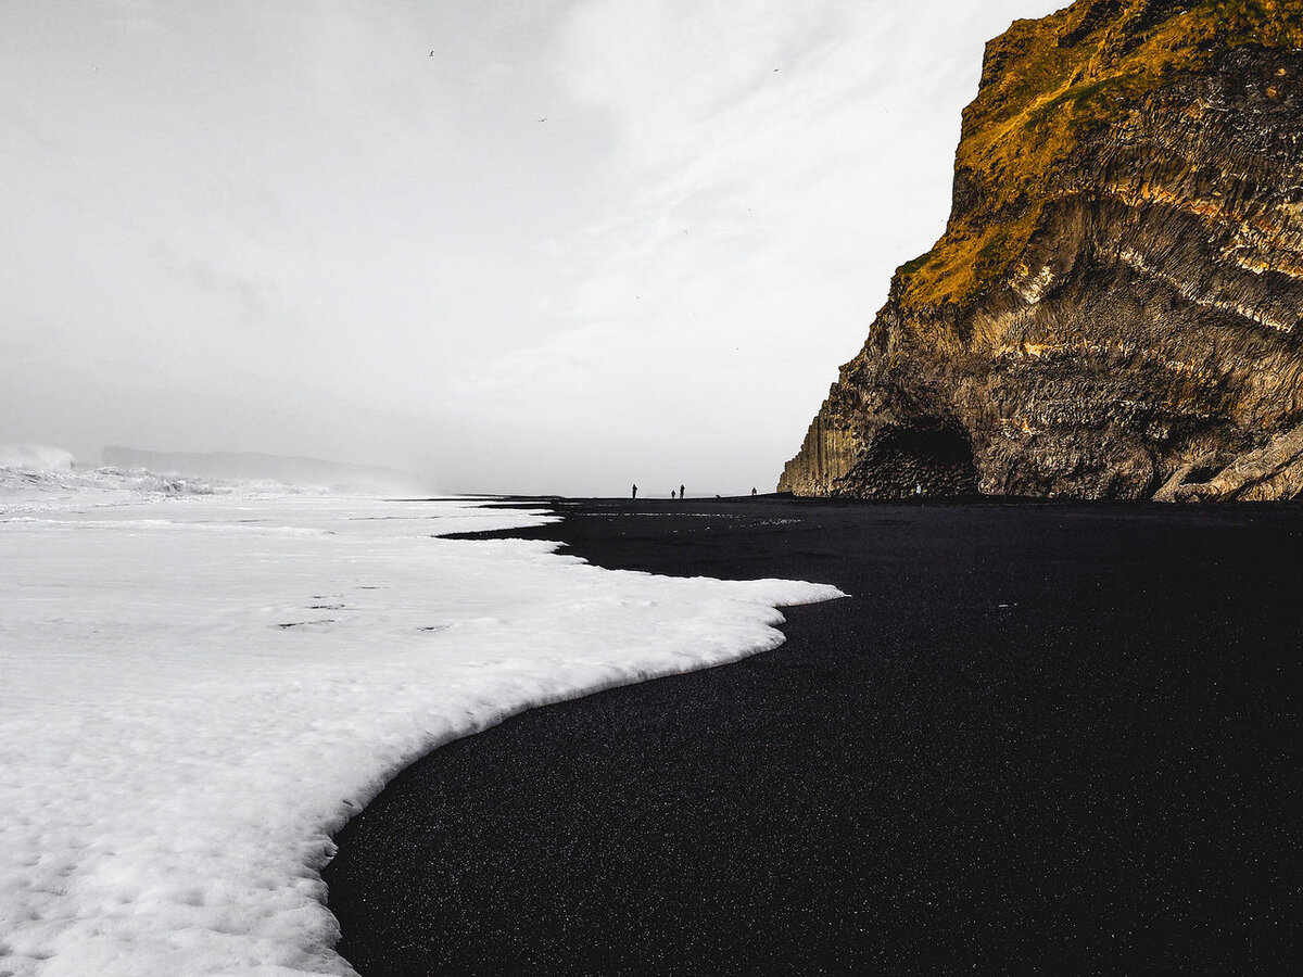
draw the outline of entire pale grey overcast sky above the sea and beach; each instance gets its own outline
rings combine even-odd
[[[0,0],[0,442],[773,490],[1063,0]]]

